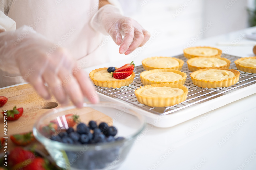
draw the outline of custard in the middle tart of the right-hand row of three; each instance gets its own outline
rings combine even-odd
[[[192,66],[196,67],[220,67],[227,64],[225,60],[219,58],[193,58],[194,61],[191,62]]]

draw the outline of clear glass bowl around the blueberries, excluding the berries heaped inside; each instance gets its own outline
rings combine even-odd
[[[58,135],[59,132],[68,129],[67,122],[63,121],[67,114],[78,115],[80,121],[86,125],[91,120],[96,120],[97,125],[106,122],[116,127],[118,130],[116,136],[125,139],[96,144],[66,144],[51,140],[52,135]],[[45,127],[56,120],[58,129],[49,128],[46,133]],[[84,103],[82,108],[66,106],[46,112],[36,121],[33,133],[35,138],[45,146],[56,164],[63,169],[115,169],[125,160],[134,139],[145,126],[144,117],[131,109],[129,104]]]

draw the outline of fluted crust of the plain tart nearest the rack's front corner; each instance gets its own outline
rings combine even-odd
[[[171,87],[171,88],[179,88],[183,90],[183,93],[179,96],[174,96],[174,97],[148,97],[148,96],[143,96],[141,93],[148,88],[151,87]],[[135,95],[137,97],[138,102],[145,104],[147,106],[151,107],[165,107],[165,106],[172,106],[175,104],[179,104],[183,101],[186,100],[187,95],[188,95],[188,88],[184,87],[181,84],[169,84],[169,83],[160,83],[160,84],[151,84],[151,85],[146,85],[143,87],[140,87],[135,90]]]

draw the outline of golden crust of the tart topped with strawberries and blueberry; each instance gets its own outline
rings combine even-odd
[[[133,72],[132,76],[130,78],[123,79],[123,80],[116,79],[114,81],[98,81],[98,80],[95,80],[93,78],[94,73],[96,73],[98,71],[101,71],[101,70],[107,70],[107,69],[108,69],[107,67],[104,67],[104,68],[99,68],[99,69],[92,70],[90,72],[89,77],[92,80],[93,84],[95,84],[96,86],[101,86],[101,87],[120,88],[122,86],[127,86],[127,85],[131,84],[133,82],[134,77],[135,77],[135,73]]]

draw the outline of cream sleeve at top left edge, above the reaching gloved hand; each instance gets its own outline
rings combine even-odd
[[[16,29],[14,20],[5,15],[9,9],[9,3],[8,0],[0,0],[0,32],[14,31]]]

